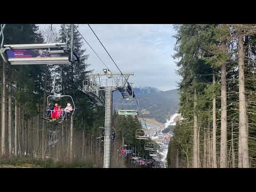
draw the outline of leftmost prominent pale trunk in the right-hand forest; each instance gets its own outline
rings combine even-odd
[[[194,91],[194,140],[193,140],[193,167],[198,167],[198,156],[197,156],[197,115],[196,115],[196,88]]]

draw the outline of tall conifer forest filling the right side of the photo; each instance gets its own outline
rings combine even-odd
[[[169,167],[255,167],[255,25],[176,25],[180,109]]]

